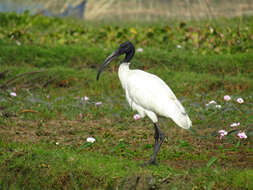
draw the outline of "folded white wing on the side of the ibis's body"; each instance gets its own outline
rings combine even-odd
[[[191,125],[182,104],[166,83],[156,75],[131,70],[126,88],[130,98],[137,105],[158,115],[172,118],[180,127],[189,128]]]

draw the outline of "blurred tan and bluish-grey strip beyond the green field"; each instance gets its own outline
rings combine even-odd
[[[0,12],[73,16],[89,20],[233,17],[253,13],[252,0],[2,0]]]

